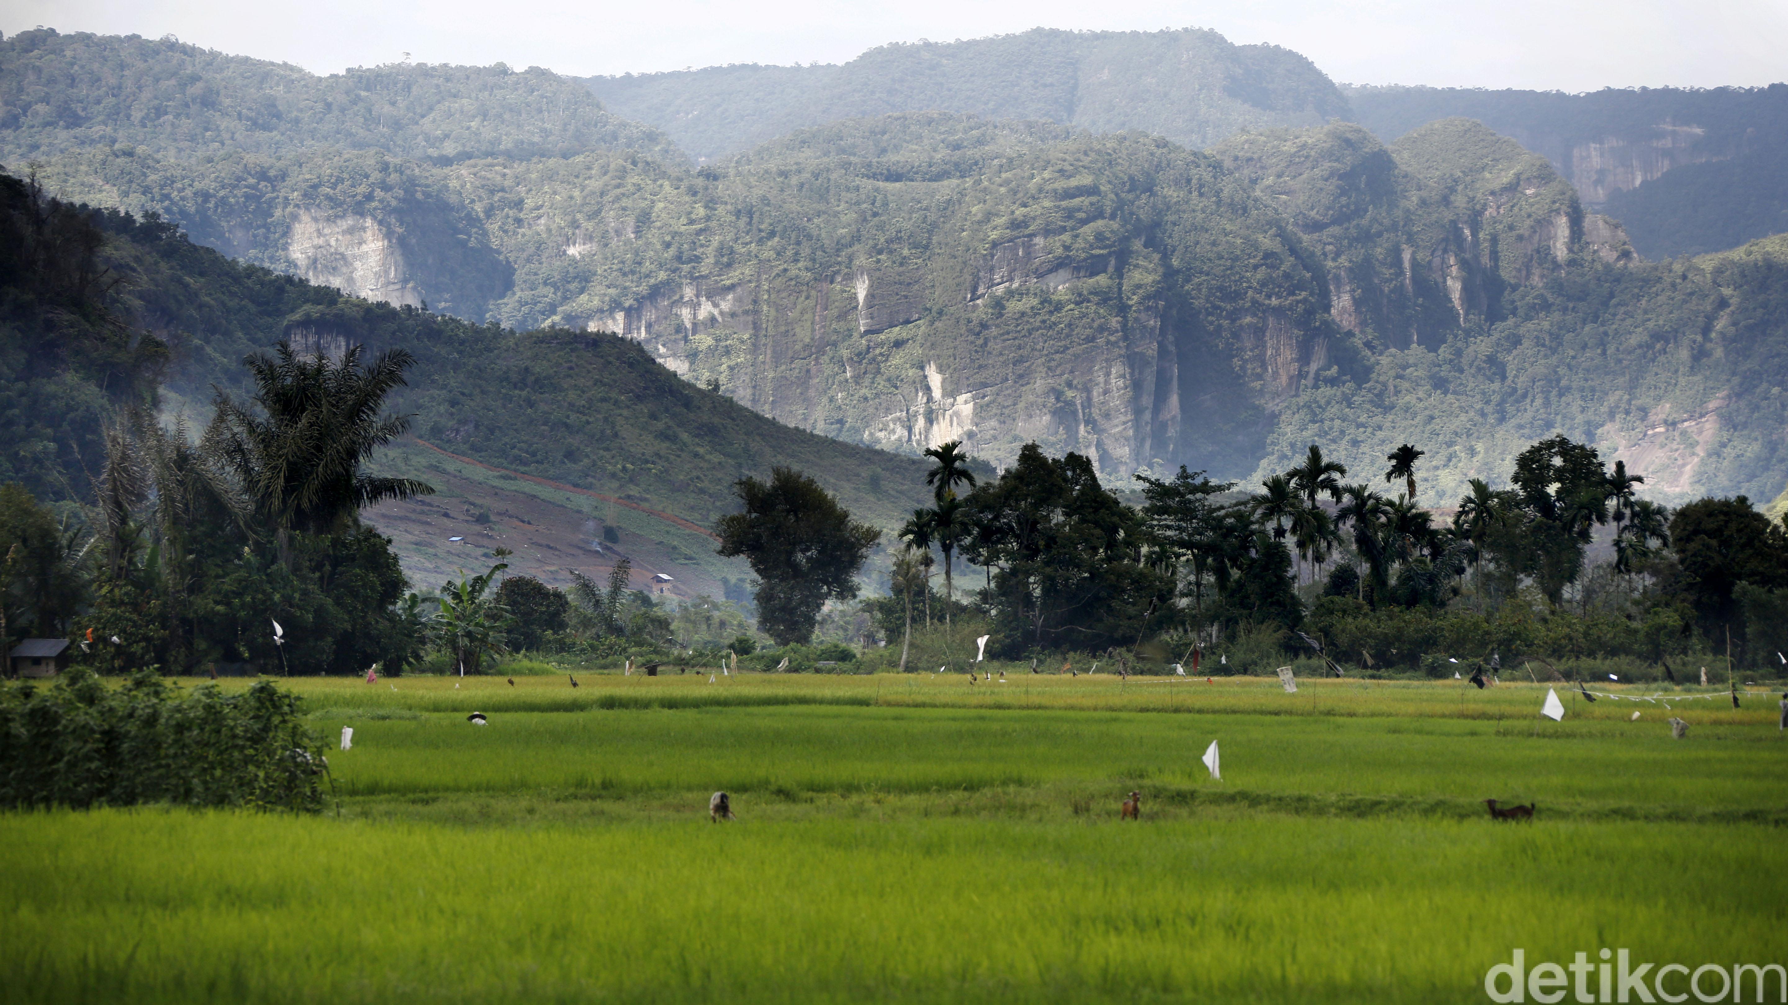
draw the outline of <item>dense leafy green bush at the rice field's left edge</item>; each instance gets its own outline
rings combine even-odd
[[[322,808],[322,740],[272,681],[191,692],[139,672],[125,687],[72,669],[0,690],[0,807]]]

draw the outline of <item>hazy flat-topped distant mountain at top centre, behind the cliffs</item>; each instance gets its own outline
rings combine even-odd
[[[1033,29],[883,45],[842,66],[710,66],[590,77],[619,114],[663,129],[699,161],[814,125],[903,111],[1032,118],[1207,147],[1243,129],[1321,125],[1346,102],[1309,59],[1212,30]]]

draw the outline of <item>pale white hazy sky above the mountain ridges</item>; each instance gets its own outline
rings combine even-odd
[[[1207,27],[1339,82],[1539,88],[1788,79],[1788,0],[0,0],[0,30],[175,34],[318,73],[402,59],[561,73],[842,63],[889,41]]]

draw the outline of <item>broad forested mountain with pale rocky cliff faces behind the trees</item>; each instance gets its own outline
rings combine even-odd
[[[36,36],[36,48],[25,36],[0,45],[27,57],[77,45]],[[186,52],[72,38],[141,59]],[[890,46],[853,73],[923,57],[937,63],[930,77],[903,79],[946,93],[982,70],[1041,72],[1046,50],[1084,55],[1107,43],[1171,43],[1196,57],[1175,64],[1200,73],[1241,66],[1243,48],[1210,50],[1212,38],[1030,32],[983,48]],[[1016,61],[1001,46],[1035,48]],[[29,61],[4,59],[13,95],[11,80],[27,79],[14,66]],[[511,77],[576,88],[545,72],[492,79]],[[765,79],[794,88],[797,77]],[[1241,100],[1230,91],[1278,93],[1300,77],[1287,70],[1264,91],[1223,79],[1187,93],[1228,95],[1210,107],[1236,111],[1223,104]],[[1075,89],[1075,100],[1089,93]],[[343,102],[370,100],[354,95]],[[1060,111],[1044,106],[992,111]],[[1194,106],[1205,107],[1180,107]],[[1243,132],[1200,152],[1044,118],[898,113],[801,129],[692,168],[651,143],[642,152],[626,131],[579,134],[544,156],[497,156],[497,139],[483,154],[456,147],[467,152],[458,159],[418,156],[413,116],[390,120],[386,148],[350,147],[334,127],[318,136],[336,139],[306,145],[309,127],[293,125],[284,147],[218,139],[224,152],[198,156],[166,138],[211,113],[170,104],[157,114],[152,129],[125,114],[18,125],[5,141],[30,132],[54,191],[156,209],[268,268],[476,324],[611,331],[690,383],[848,442],[917,452],[964,438],[999,465],[1039,442],[1089,454],[1107,477],[1180,463],[1248,477],[1282,470],[1312,440],[1364,469],[1414,440],[1429,451],[1425,485],[1445,499],[1468,477],[1500,477],[1520,447],[1561,431],[1629,458],[1665,497],[1781,490],[1788,422],[1774,388],[1788,365],[1772,313],[1784,283],[1774,254],[1641,263],[1547,157],[1470,120],[1432,122],[1389,147],[1332,122]],[[86,145],[80,129],[91,131],[80,132]],[[107,131],[163,139],[93,141]],[[502,352],[519,352],[504,338],[467,334],[454,352],[485,352],[495,372],[508,367]],[[540,386],[527,408],[595,408],[565,404],[576,383]],[[551,424],[493,426],[488,410],[501,406],[468,406],[443,429],[472,418],[468,452],[490,463],[556,465],[563,481],[594,470],[560,454],[567,438]]]

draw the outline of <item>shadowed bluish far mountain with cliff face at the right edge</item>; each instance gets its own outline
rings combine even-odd
[[[1475,118],[1545,154],[1647,258],[1702,254],[1788,231],[1788,84],[1588,95],[1343,88],[1382,141]]]

